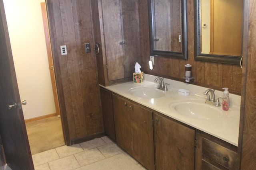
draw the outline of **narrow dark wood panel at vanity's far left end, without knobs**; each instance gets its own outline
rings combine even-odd
[[[100,88],[100,96],[105,133],[116,141],[111,93]]]

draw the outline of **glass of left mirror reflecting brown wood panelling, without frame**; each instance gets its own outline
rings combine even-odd
[[[154,50],[182,52],[180,1],[152,0]]]

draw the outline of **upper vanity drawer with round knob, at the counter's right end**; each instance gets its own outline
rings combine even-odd
[[[203,138],[202,154],[228,169],[234,169],[237,164],[237,153]]]

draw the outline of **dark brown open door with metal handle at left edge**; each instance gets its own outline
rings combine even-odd
[[[13,170],[33,170],[2,0],[0,15],[0,135],[8,166]],[[17,108],[8,109],[7,106],[14,103]]]

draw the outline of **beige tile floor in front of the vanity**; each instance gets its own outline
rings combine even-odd
[[[146,170],[108,137],[32,155],[35,170]]]

